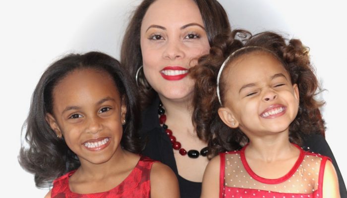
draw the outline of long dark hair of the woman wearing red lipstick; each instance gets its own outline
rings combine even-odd
[[[142,19],[148,7],[156,0],[143,0],[134,11],[126,28],[120,51],[120,61],[135,79],[136,71],[142,65],[142,53],[140,46],[140,29]],[[210,46],[213,46],[213,38],[225,31],[230,31],[228,15],[217,0],[193,0],[199,7],[204,22]],[[141,83],[138,84],[138,93],[141,97],[141,106],[148,106],[156,97],[156,92],[149,89],[149,84],[144,78],[143,72]]]

